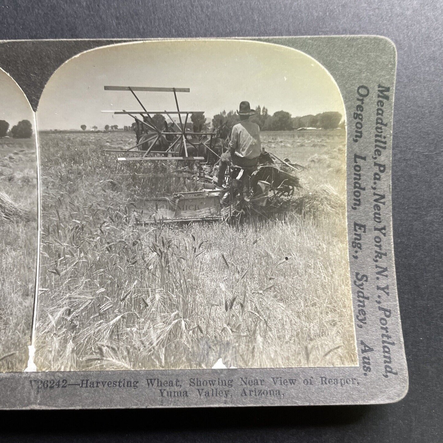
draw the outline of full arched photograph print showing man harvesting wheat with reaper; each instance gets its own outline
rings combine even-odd
[[[346,113],[272,43],[122,43],[37,109],[42,371],[358,365]]]

